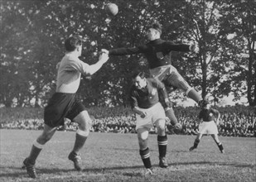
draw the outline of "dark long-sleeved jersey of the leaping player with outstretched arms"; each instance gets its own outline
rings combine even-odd
[[[109,50],[109,55],[133,55],[143,53],[147,59],[149,69],[154,69],[162,65],[171,65],[171,50],[185,52],[190,50],[189,47],[190,45],[178,45],[174,44],[172,41],[157,39],[134,48]]]

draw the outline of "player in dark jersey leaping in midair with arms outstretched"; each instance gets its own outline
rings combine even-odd
[[[174,44],[172,41],[164,41],[160,38],[162,27],[158,23],[153,23],[147,31],[148,42],[145,45],[139,45],[133,48],[118,48],[112,50],[102,50],[109,55],[133,55],[142,53],[148,62],[149,71],[153,78],[159,79],[167,87],[174,87],[183,90],[189,98],[192,98],[196,103],[200,104],[202,100],[196,89],[186,82],[185,79],[178,73],[176,68],[171,65],[171,51],[197,51],[196,45]],[[177,118],[172,107],[165,108],[166,115],[171,120],[172,125],[181,127],[177,124]]]

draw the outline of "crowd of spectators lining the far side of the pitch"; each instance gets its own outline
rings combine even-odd
[[[220,136],[256,136],[256,113],[254,108],[235,106],[217,109],[221,113],[218,126]],[[38,111],[36,112],[38,113]],[[175,108],[175,112],[179,122],[181,122],[182,130],[177,132],[174,127],[167,123],[167,133],[170,135],[196,135],[200,125],[197,119],[199,109],[192,107]],[[93,120],[91,132],[136,132],[136,118],[130,108],[90,108],[89,113],[92,115]],[[21,114],[19,114],[20,116]],[[40,117],[15,119],[14,117],[12,121],[0,122],[0,128],[41,130],[43,128],[43,119]],[[76,123],[66,119],[65,125],[58,128],[58,130],[76,131],[76,128]],[[150,132],[157,133],[156,128],[152,128]]]

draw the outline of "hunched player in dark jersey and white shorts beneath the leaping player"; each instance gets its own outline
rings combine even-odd
[[[167,168],[167,134],[165,124],[165,112],[159,103],[159,94],[169,106],[171,103],[167,98],[164,84],[158,79],[147,79],[144,72],[133,74],[133,86],[130,90],[130,103],[133,112],[136,113],[136,130],[138,133],[139,154],[147,171],[145,175],[152,175],[150,152],[147,145],[148,132],[156,125],[157,142],[159,150],[159,166]]]

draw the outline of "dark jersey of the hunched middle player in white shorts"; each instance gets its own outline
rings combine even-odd
[[[131,107],[151,108],[159,102],[158,91],[167,98],[167,91],[164,84],[157,79],[147,79],[147,86],[142,89],[137,89],[135,85],[130,90]]]

